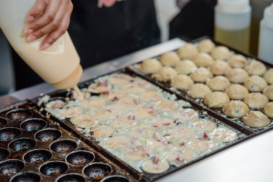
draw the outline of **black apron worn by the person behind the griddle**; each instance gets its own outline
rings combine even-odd
[[[83,68],[108,61],[160,42],[153,0],[116,2],[98,8],[97,0],[72,0],[69,35]],[[43,82],[12,51],[16,89]]]

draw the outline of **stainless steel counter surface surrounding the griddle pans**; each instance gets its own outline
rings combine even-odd
[[[160,55],[179,48],[185,42],[175,38],[154,45],[153,47],[99,64],[84,70],[81,81],[97,75],[124,68],[143,59]],[[9,105],[19,100],[32,99],[40,93],[54,90],[48,83],[41,83],[0,97],[0,106]],[[236,146],[202,159],[167,175],[157,181],[273,181],[273,130],[255,136]]]

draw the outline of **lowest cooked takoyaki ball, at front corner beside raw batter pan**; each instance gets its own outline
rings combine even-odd
[[[243,121],[250,127],[265,127],[270,124],[270,120],[260,111],[250,111],[249,115],[243,117]]]

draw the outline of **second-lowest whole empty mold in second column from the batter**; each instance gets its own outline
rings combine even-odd
[[[36,149],[27,152],[23,159],[28,163],[42,163],[48,161],[52,157],[52,153],[45,149]]]

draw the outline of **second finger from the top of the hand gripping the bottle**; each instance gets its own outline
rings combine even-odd
[[[31,23],[27,24],[24,28],[25,35],[29,35],[30,33],[36,31],[37,29],[47,25],[52,22],[57,14],[58,7],[60,6],[60,1],[50,1],[48,6],[44,10],[44,14],[37,17]]]

